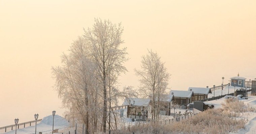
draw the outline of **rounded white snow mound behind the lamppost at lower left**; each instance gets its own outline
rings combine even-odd
[[[49,115],[49,116],[44,117],[40,123],[44,123],[46,125],[52,126],[53,125],[53,116]],[[66,119],[62,118],[61,116],[55,115],[54,116],[54,126],[69,126],[69,122]]]

